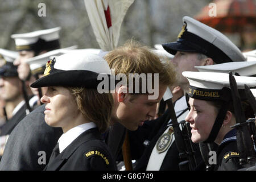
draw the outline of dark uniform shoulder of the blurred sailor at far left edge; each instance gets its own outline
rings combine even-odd
[[[22,107],[15,113],[11,119],[9,119],[2,127],[0,136],[10,135],[11,131],[13,131],[14,127],[18,125],[20,121],[26,116],[26,104],[23,104]]]

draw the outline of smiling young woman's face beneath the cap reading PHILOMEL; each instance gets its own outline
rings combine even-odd
[[[216,107],[210,105],[207,101],[189,98],[191,109],[185,121],[190,123],[191,140],[193,143],[199,143],[207,140],[213,123],[217,117]]]

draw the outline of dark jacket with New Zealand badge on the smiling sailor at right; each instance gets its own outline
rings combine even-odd
[[[237,171],[243,168],[239,164],[236,142],[236,129],[229,131],[217,148],[217,165],[214,171]]]

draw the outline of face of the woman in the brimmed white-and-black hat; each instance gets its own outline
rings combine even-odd
[[[49,86],[41,102],[46,104],[44,119],[49,126],[67,129],[79,115],[71,92],[62,86]]]

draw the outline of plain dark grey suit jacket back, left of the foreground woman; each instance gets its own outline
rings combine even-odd
[[[45,105],[39,106],[26,115],[11,132],[0,162],[1,171],[43,170],[46,167],[52,149],[63,131],[46,124],[44,110]],[[46,163],[40,160],[44,157]]]

